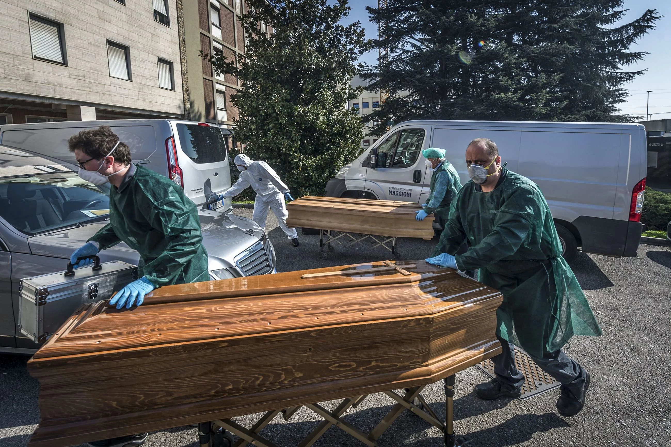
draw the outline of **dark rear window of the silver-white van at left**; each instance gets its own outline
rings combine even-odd
[[[183,153],[194,163],[217,163],[226,159],[226,146],[218,127],[177,124]]]

